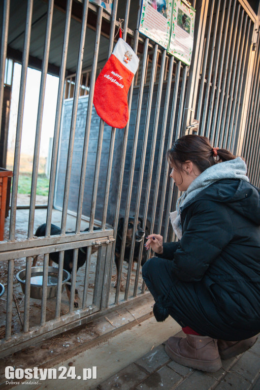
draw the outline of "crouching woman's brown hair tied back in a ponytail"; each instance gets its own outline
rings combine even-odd
[[[209,139],[195,134],[183,136],[176,140],[166,154],[169,163],[174,164],[177,170],[180,171],[185,161],[192,161],[200,172],[204,172],[215,164],[236,158],[234,154],[226,149],[218,149],[217,156],[219,157],[218,160],[213,157],[213,148]]]

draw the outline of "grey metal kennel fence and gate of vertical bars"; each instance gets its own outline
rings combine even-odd
[[[128,216],[142,215],[144,226],[149,220],[150,231],[163,233],[165,239],[173,239],[169,226],[169,212],[174,209],[177,192],[167,179],[168,166],[165,151],[176,138],[191,133],[205,135],[214,146],[226,147],[235,154],[243,155],[249,162],[249,176],[259,186],[259,9],[252,8],[246,0],[206,0],[194,1],[197,9],[194,48],[191,66],[187,67],[167,54],[156,43],[139,34],[140,2],[114,0],[110,16],[102,7],[88,1],[61,2],[57,0],[4,0],[2,4],[2,38],[0,57],[0,104],[3,104],[4,75],[6,58],[22,64],[19,92],[19,106],[16,127],[13,184],[9,236],[0,243],[0,262],[7,264],[6,313],[4,317],[5,337],[0,340],[1,355],[44,340],[55,334],[72,329],[118,306],[132,300],[142,300],[145,286],[140,282],[140,264],[143,245],[140,245],[139,261],[132,271],[135,237],[129,256],[128,270],[124,279],[121,250],[120,266],[116,289],[112,286],[115,239],[120,216],[127,221]],[[252,2],[252,4],[256,4]],[[20,31],[13,28],[14,8],[20,12]],[[22,16],[22,17],[21,17]],[[95,79],[113,50],[119,18],[124,18],[123,39],[133,47],[140,57],[137,75],[128,92],[128,109],[131,113],[126,127],[107,130],[103,120],[98,120],[95,159],[92,172],[89,231],[81,232],[84,188],[89,164],[89,147],[92,126],[96,123],[93,111]],[[53,31],[55,34],[53,34]],[[76,32],[77,35],[76,35]],[[34,32],[34,34],[32,34]],[[41,33],[41,34],[40,34]],[[16,37],[15,37],[16,34]],[[60,58],[55,57],[54,43],[57,37],[63,42]],[[41,36],[42,40],[37,41]],[[43,39],[44,37],[44,39]],[[77,56],[70,45],[70,39],[78,38]],[[41,42],[42,53],[36,46]],[[74,46],[75,42],[73,41]],[[91,43],[91,45],[90,45]],[[89,45],[89,46],[88,46]],[[90,57],[90,66],[88,63]],[[40,62],[39,62],[40,58]],[[71,65],[74,59],[74,66]],[[57,62],[59,64],[57,66]],[[39,65],[40,63],[40,65]],[[55,67],[53,65],[55,63]],[[68,65],[70,63],[70,66]],[[17,193],[20,168],[22,122],[28,66],[41,69],[41,86],[37,113],[34,163],[32,168],[31,194],[26,237],[16,239]],[[51,67],[52,66],[52,67]],[[58,69],[59,87],[56,106],[54,139],[51,158],[46,236],[35,238],[36,189],[48,69]],[[69,72],[69,75],[68,75]],[[69,82],[68,82],[69,80]],[[70,90],[64,87],[70,85]],[[72,88],[73,86],[73,88]],[[80,161],[80,175],[76,203],[75,233],[66,234],[71,183],[74,179],[73,156],[77,114],[82,97],[88,96],[84,123],[84,141]],[[65,99],[64,99],[65,98]],[[66,98],[72,99],[70,131],[64,169],[61,233],[50,236],[55,183],[60,168],[62,148],[62,113]],[[199,121],[199,124],[197,124]],[[104,135],[109,132],[107,159],[104,166]],[[118,147],[118,145],[120,147]],[[91,149],[91,150],[90,150]],[[130,152],[129,152],[130,151]],[[117,154],[120,158],[116,158]],[[57,164],[59,161],[59,164]],[[119,162],[118,162],[119,161]],[[117,165],[116,165],[117,164]],[[112,173],[117,166],[117,176]],[[105,167],[105,168],[104,168]],[[105,184],[102,187],[104,198],[99,199],[102,172],[105,169]],[[74,171],[73,171],[74,172]],[[115,180],[116,179],[116,180]],[[116,183],[116,185],[115,185]],[[116,196],[112,193],[116,188]],[[112,204],[112,206],[111,206]],[[97,218],[98,209],[101,217]],[[113,210],[113,223],[108,223],[108,211]],[[43,221],[44,222],[44,221]],[[99,230],[93,230],[98,222]],[[134,231],[138,219],[135,218]],[[122,248],[126,244],[127,222],[124,223]],[[91,248],[98,248],[93,262]],[[79,309],[74,308],[77,257],[80,248],[87,247],[84,265],[83,291]],[[64,251],[74,249],[71,282],[71,297],[67,313],[61,306],[61,278]],[[59,252],[58,293],[52,316],[47,312],[47,279],[49,254]],[[150,253],[146,254],[149,257]],[[34,256],[43,257],[43,297],[39,305],[39,318],[32,320],[30,293],[31,263]],[[15,270],[17,266],[26,268],[26,284],[22,316],[22,330],[14,323],[16,294]],[[90,294],[90,277],[93,274],[93,291]],[[134,275],[134,281],[133,279]],[[132,279],[131,279],[132,278]],[[121,282],[124,291],[121,291]],[[140,287],[141,283],[141,289]],[[115,293],[114,293],[115,291]],[[114,294],[113,294],[114,293]],[[112,296],[112,298],[111,298]],[[22,301],[21,301],[22,302]],[[0,324],[2,325],[2,323]]]

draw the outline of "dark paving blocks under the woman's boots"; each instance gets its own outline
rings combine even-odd
[[[179,332],[178,336],[183,336]],[[222,368],[204,373],[181,366],[171,359],[164,343],[127,365],[97,386],[98,390],[259,390],[260,338],[248,351],[223,360]]]

